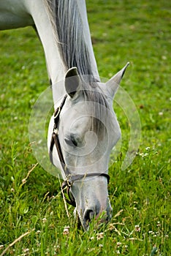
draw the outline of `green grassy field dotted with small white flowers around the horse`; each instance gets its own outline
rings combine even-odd
[[[171,255],[170,1],[88,0],[87,9],[100,76],[130,61],[121,86],[140,115],[139,152],[121,170],[129,124],[114,103],[123,139],[110,167],[113,219],[77,230],[29,144],[31,108],[48,86],[42,45],[31,28],[1,31],[0,255]]]

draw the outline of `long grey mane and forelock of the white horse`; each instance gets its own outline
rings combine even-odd
[[[83,81],[82,89],[86,101],[99,103],[91,104],[94,105],[91,109],[94,116],[91,118],[91,129],[99,133],[104,127],[100,117],[104,118],[106,115],[104,109],[109,106],[98,86],[99,80],[94,76],[91,50],[88,48],[83,17],[80,15],[77,0],[44,0],[44,2],[66,70],[77,67],[77,72]]]

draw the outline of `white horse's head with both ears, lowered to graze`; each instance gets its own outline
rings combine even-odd
[[[51,159],[61,169],[85,229],[91,219],[107,222],[112,216],[107,191],[108,162],[110,151],[121,137],[113,97],[127,65],[107,83],[83,79],[76,67],[69,69],[64,80],[65,97],[55,114],[55,128],[54,116],[50,120]]]

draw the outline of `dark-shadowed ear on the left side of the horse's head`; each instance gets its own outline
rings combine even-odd
[[[80,76],[77,73],[77,67],[72,67],[65,75],[65,89],[70,97],[74,97],[80,88]]]

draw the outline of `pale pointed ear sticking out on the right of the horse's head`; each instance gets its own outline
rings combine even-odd
[[[128,67],[129,62],[121,69],[118,73],[116,73],[113,78],[110,78],[109,81],[107,81],[106,86],[107,90],[110,92],[110,96],[114,97],[115,93],[118,89],[119,84],[121,83],[121,79],[123,78],[123,75],[125,73],[126,67]]]

